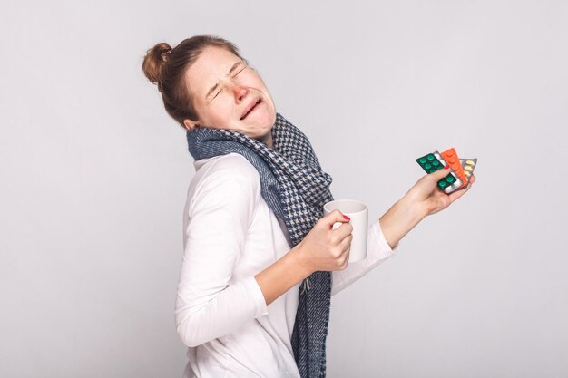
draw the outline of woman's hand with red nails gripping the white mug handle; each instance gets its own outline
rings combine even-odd
[[[336,222],[343,223],[332,229]],[[339,210],[320,218],[308,235],[294,247],[307,276],[317,271],[343,270],[348,266],[353,226]]]

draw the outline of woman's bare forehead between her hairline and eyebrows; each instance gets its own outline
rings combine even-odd
[[[191,92],[203,95],[220,78],[229,73],[230,67],[240,58],[220,47],[207,47],[185,73]]]

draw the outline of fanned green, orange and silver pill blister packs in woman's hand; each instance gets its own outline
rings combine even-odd
[[[426,173],[432,173],[441,170],[449,165],[449,173],[444,179],[437,182],[439,189],[444,190],[446,194],[455,192],[455,190],[465,189],[469,178],[473,175],[477,159],[459,159],[457,151],[454,147],[443,151],[437,150],[416,159],[416,162]]]

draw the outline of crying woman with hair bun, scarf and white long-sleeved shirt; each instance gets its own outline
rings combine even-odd
[[[156,44],[142,67],[195,159],[175,307],[185,376],[325,376],[329,296],[475,178],[450,195],[436,188],[447,167],[419,179],[371,223],[367,258],[348,265],[349,219],[322,217],[331,177],[234,44],[206,35]]]

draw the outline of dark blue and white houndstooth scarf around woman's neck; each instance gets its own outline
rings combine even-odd
[[[333,196],[332,178],[321,170],[308,138],[276,113],[273,149],[239,131],[197,128],[187,131],[195,160],[236,152],[259,171],[262,198],[283,219],[295,247],[323,216]],[[314,272],[303,282],[292,332],[292,349],[302,378],[326,376],[331,273]]]

